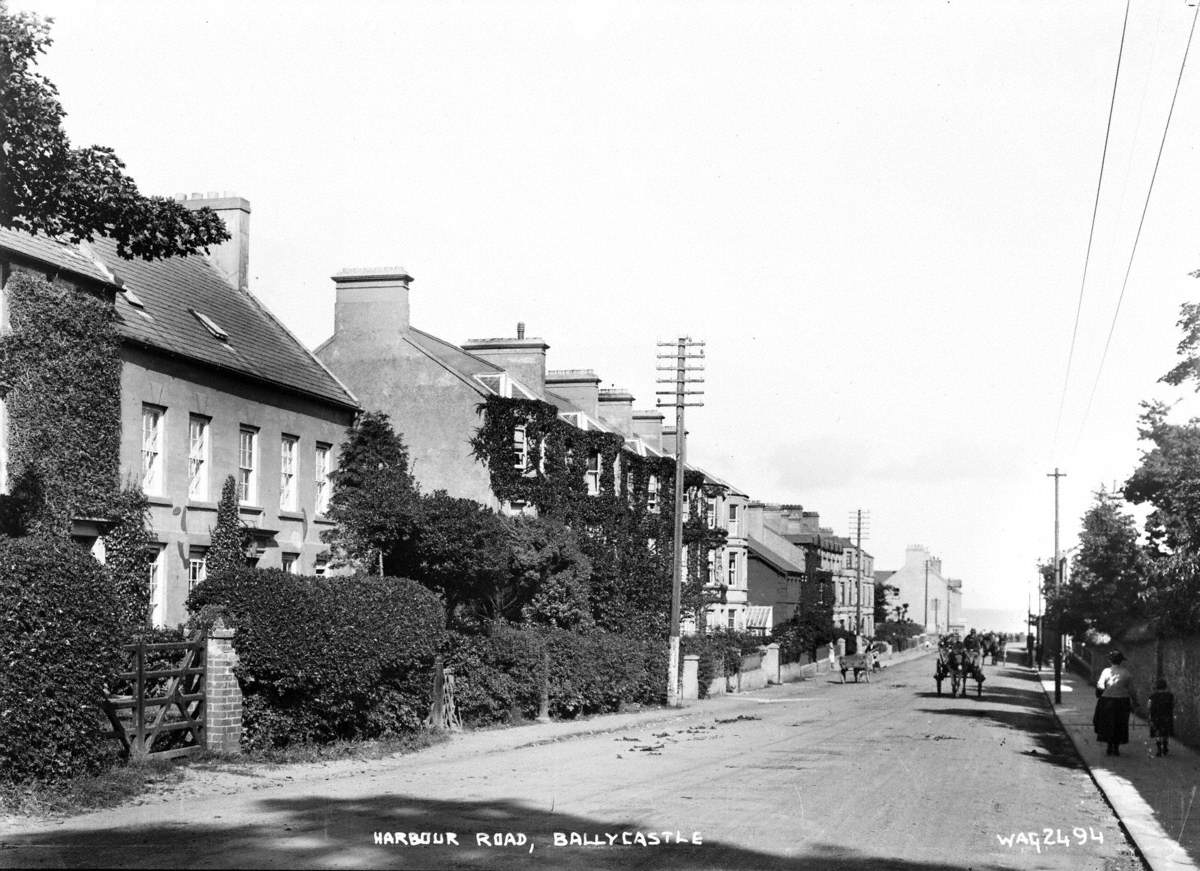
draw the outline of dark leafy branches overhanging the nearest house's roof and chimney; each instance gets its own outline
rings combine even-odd
[[[210,209],[144,197],[112,149],[72,148],[58,89],[34,71],[53,19],[0,0],[0,227],[71,241],[97,234],[127,259],[206,251],[229,238]]]

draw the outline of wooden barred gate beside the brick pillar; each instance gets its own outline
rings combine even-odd
[[[101,702],[126,756],[172,758],[204,747],[205,636],[190,641],[124,647],[128,671],[116,675]]]

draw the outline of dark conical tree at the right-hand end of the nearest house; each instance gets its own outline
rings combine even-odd
[[[329,517],[337,525],[322,533],[337,565],[371,575],[401,575],[412,564],[420,511],[408,449],[388,415],[368,412],[346,431]]]

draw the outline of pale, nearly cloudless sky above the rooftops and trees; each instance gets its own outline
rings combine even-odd
[[[1139,403],[1200,414],[1157,383],[1200,296],[1200,56],[1130,266],[1183,0],[1129,13],[1086,283],[1118,0],[10,7],[55,18],[76,145],[250,200],[251,289],[308,347],[330,276],[397,264],[414,325],[524,322],[636,408],[655,342],[704,340],[689,459],[841,534],[868,511],[876,567],[925,545],[967,609],[1024,613],[1048,473],[1066,551]]]

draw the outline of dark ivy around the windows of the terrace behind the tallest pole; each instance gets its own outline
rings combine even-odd
[[[480,404],[480,413],[484,420],[472,447],[488,468],[492,492],[502,501],[532,506],[539,516],[559,519],[576,531],[592,560],[596,625],[666,635],[674,458],[638,456],[625,450],[622,436],[578,430],[540,400],[492,396]],[[514,450],[518,427],[524,434],[523,463]],[[598,471],[594,494],[588,492],[589,469]],[[650,505],[652,476],[658,485],[656,509]],[[707,497],[720,488],[706,485],[698,471],[685,474],[684,487],[688,572],[680,606],[684,617],[700,617],[713,596],[706,589],[708,554],[725,543],[725,530],[710,528],[706,516]]]

